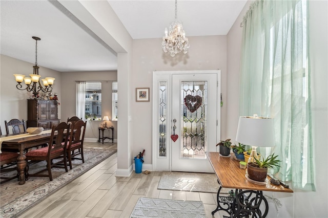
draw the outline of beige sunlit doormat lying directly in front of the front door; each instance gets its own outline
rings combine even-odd
[[[217,193],[219,187],[215,173],[200,172],[163,171],[158,183],[158,189],[177,191]],[[221,193],[228,191],[229,189],[223,189]]]

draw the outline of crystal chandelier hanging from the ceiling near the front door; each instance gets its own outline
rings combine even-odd
[[[189,41],[183,30],[182,23],[177,19],[177,0],[175,0],[175,20],[170,24],[170,32],[165,28],[165,36],[163,36],[162,48],[164,52],[170,52],[171,56],[183,50],[187,54],[189,49]]]

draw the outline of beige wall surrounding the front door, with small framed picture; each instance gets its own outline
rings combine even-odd
[[[135,88],[150,87],[153,71],[221,70],[223,99],[227,96],[227,36],[188,37],[189,52],[171,57],[161,48],[161,39],[133,40],[132,60],[132,154],[146,149],[145,164],[152,163],[152,101],[136,102]],[[226,105],[221,108],[221,136],[226,137]]]

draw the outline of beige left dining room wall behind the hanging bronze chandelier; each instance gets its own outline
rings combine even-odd
[[[17,60],[15,58],[1,55],[1,73],[0,73],[0,124],[2,133],[6,133],[5,120],[9,121],[13,118],[24,119],[27,121],[27,100],[32,95],[27,91],[16,89],[17,82],[13,74],[23,74],[29,76],[33,74],[33,63]],[[39,66],[40,67],[40,66]],[[60,72],[40,67],[40,78],[54,77],[53,93],[58,94],[61,103],[61,74]],[[22,83],[23,88],[26,87]],[[60,119],[60,106],[58,107],[58,117]]]

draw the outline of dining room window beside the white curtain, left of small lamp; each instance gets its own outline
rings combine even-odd
[[[86,82],[86,119],[101,120],[101,82]]]

